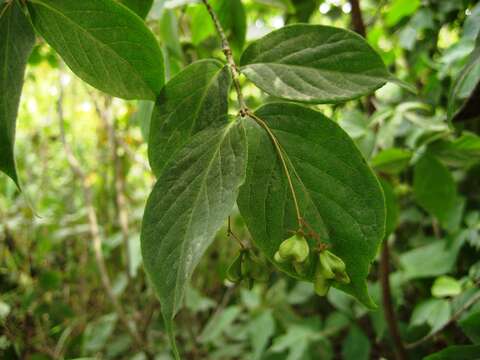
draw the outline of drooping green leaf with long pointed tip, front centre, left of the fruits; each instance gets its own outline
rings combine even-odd
[[[206,129],[177,153],[148,199],[142,255],[170,334],[193,270],[233,209],[245,166],[240,121]]]

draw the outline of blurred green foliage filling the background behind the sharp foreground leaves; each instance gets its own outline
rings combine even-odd
[[[236,57],[246,42],[286,24],[351,28],[363,32],[390,71],[416,93],[389,83],[365,101],[318,106],[355,139],[386,193],[388,247],[379,254],[383,266],[375,262],[370,277],[378,310],[368,312],[335,289],[317,297],[311,284],[276,272],[267,284],[251,289],[229,283],[226,268],[239,247],[225,228],[195,272],[186,308],[178,315],[185,358],[393,359],[395,336],[385,301],[396,314],[401,338],[411,345],[405,358],[421,359],[451,345],[468,345],[471,357],[463,358],[479,358],[480,108],[475,86],[480,66],[467,76],[468,91],[451,89],[475,61],[471,54],[480,4],[361,0],[359,21],[357,1],[212,3]],[[146,21],[164,50],[168,77],[197,59],[222,59],[202,4],[156,0]],[[16,141],[25,195],[0,176],[0,357],[169,359],[139,249],[143,208],[154,182],[145,141],[152,104],[97,92],[41,41],[29,65]],[[252,108],[273,100],[241,80]],[[452,96],[454,127],[447,121]],[[71,167],[63,136],[84,177]],[[95,260],[92,209],[111,294]],[[238,213],[233,226],[248,242]],[[386,281],[391,294],[385,294]],[[122,317],[137,328],[140,343]],[[464,350],[459,351],[439,358],[459,359]]]

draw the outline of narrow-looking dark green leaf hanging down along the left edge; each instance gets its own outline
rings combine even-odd
[[[0,14],[0,171],[19,186],[15,127],[25,66],[35,34],[16,1],[0,5]]]

